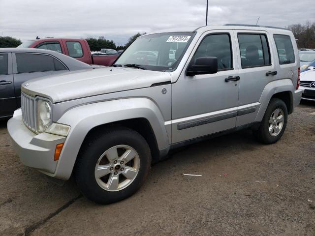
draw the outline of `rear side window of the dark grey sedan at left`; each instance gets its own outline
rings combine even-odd
[[[15,57],[18,73],[66,70],[60,61],[48,55],[18,53]]]

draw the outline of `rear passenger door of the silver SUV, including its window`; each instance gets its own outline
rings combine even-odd
[[[275,55],[270,50],[272,35],[260,30],[234,30],[240,88],[236,126],[252,123],[258,113],[265,86],[277,80]]]

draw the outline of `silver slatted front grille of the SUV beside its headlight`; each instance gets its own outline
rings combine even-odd
[[[36,132],[36,100],[34,97],[26,95],[25,93],[21,94],[21,108],[22,108],[22,118],[24,124]]]

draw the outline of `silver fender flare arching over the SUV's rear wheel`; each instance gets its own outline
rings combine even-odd
[[[261,106],[255,118],[255,122],[262,120],[271,97],[276,93],[285,92],[285,91],[290,92],[291,105],[293,105],[294,86],[290,79],[276,80],[266,85],[259,99],[259,103],[261,104]]]

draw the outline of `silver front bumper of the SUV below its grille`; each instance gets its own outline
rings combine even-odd
[[[53,176],[58,163],[54,161],[55,148],[57,144],[64,143],[66,137],[49,133],[33,133],[23,123],[21,109],[16,110],[13,117],[9,119],[7,129],[21,162]]]

